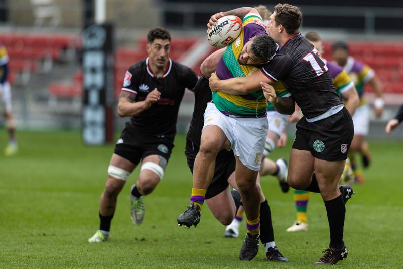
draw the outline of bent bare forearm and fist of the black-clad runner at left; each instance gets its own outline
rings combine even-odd
[[[119,117],[135,116],[145,110],[148,110],[153,103],[160,98],[161,93],[155,88],[151,91],[146,100],[136,102],[136,95],[122,91],[117,105],[117,114]]]

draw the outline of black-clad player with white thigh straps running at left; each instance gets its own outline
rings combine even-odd
[[[147,35],[148,57],[126,72],[117,112],[130,116],[108,167],[108,179],[99,206],[99,230],[89,242],[108,240],[119,192],[141,162],[138,181],[131,187],[131,220],[144,218],[143,196],[153,192],[164,175],[174,147],[178,110],[185,89],[193,89],[197,75],[169,58],[171,36],[161,27]]]

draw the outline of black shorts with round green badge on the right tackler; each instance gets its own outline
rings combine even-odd
[[[318,159],[344,160],[353,135],[353,120],[343,107],[338,113],[317,122],[309,123],[305,117],[299,120],[293,148],[308,150]]]

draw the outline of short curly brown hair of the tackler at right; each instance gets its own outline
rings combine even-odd
[[[274,7],[276,25],[283,25],[287,34],[296,34],[299,32],[302,23],[302,14],[297,6],[290,4],[277,4]]]

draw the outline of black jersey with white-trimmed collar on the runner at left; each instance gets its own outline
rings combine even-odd
[[[138,102],[144,101],[148,93],[157,88],[161,97],[150,109],[131,117],[126,127],[146,135],[173,138],[185,88],[193,89],[197,79],[193,70],[171,59],[159,78],[154,76],[149,58],[132,65],[126,71],[122,92],[135,95]]]

